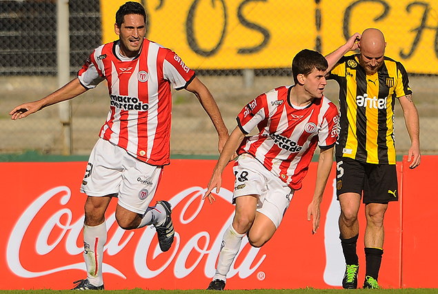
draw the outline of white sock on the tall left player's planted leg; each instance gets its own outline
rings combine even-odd
[[[88,282],[94,286],[103,284],[103,246],[106,243],[106,222],[99,226],[83,225],[83,259],[87,268]]]

